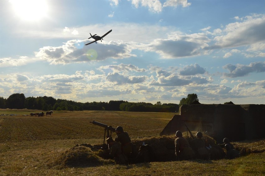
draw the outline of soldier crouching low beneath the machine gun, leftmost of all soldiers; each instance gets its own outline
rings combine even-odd
[[[119,142],[113,141],[112,137],[107,139],[107,144],[109,146],[109,156],[114,158],[115,164],[127,164],[128,158],[122,154],[121,145]]]

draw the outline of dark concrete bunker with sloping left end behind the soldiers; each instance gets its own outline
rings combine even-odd
[[[179,112],[160,136],[186,132],[185,122],[191,131],[207,131],[218,142],[224,137],[232,141],[265,137],[264,104],[185,104]]]

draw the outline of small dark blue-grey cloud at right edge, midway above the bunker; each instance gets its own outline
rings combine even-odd
[[[239,77],[246,76],[251,72],[265,72],[265,62],[254,62],[249,65],[242,64],[226,64],[223,66],[224,69],[229,70],[229,73],[224,73],[225,77]]]

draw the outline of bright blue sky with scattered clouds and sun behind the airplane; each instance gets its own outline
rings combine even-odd
[[[0,0],[0,96],[14,93],[265,104],[265,1]]]

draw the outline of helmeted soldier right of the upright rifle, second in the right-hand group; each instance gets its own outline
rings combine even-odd
[[[202,160],[209,160],[210,153],[205,148],[205,141],[202,139],[202,132],[196,133],[197,138],[190,141],[191,148],[195,153],[195,157]]]

